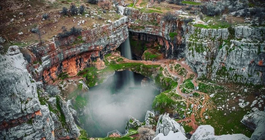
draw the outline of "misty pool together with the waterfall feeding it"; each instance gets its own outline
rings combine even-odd
[[[132,59],[129,39],[121,44],[121,55]],[[89,88],[86,113],[80,118],[90,137],[106,137],[116,129],[124,134],[129,115],[144,121],[159,91],[151,84],[141,87],[143,78],[125,70],[115,72],[104,84]]]

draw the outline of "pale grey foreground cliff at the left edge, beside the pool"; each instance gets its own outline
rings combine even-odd
[[[0,139],[62,139],[56,136],[55,126],[59,123],[53,121],[53,112],[49,109],[52,107],[41,105],[39,101],[38,94],[43,91],[43,84],[31,78],[28,63],[18,46],[11,46],[6,55],[0,55],[0,67]],[[69,114],[68,106],[60,104],[60,108],[66,108],[64,117],[72,121],[72,116],[66,115]],[[66,122],[65,129],[69,133],[64,137],[80,135],[72,122]]]

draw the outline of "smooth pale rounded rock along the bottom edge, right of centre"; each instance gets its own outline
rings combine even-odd
[[[215,136],[215,130],[210,125],[201,125],[191,136],[190,140],[249,140],[249,138],[243,134],[227,134],[221,136]]]

